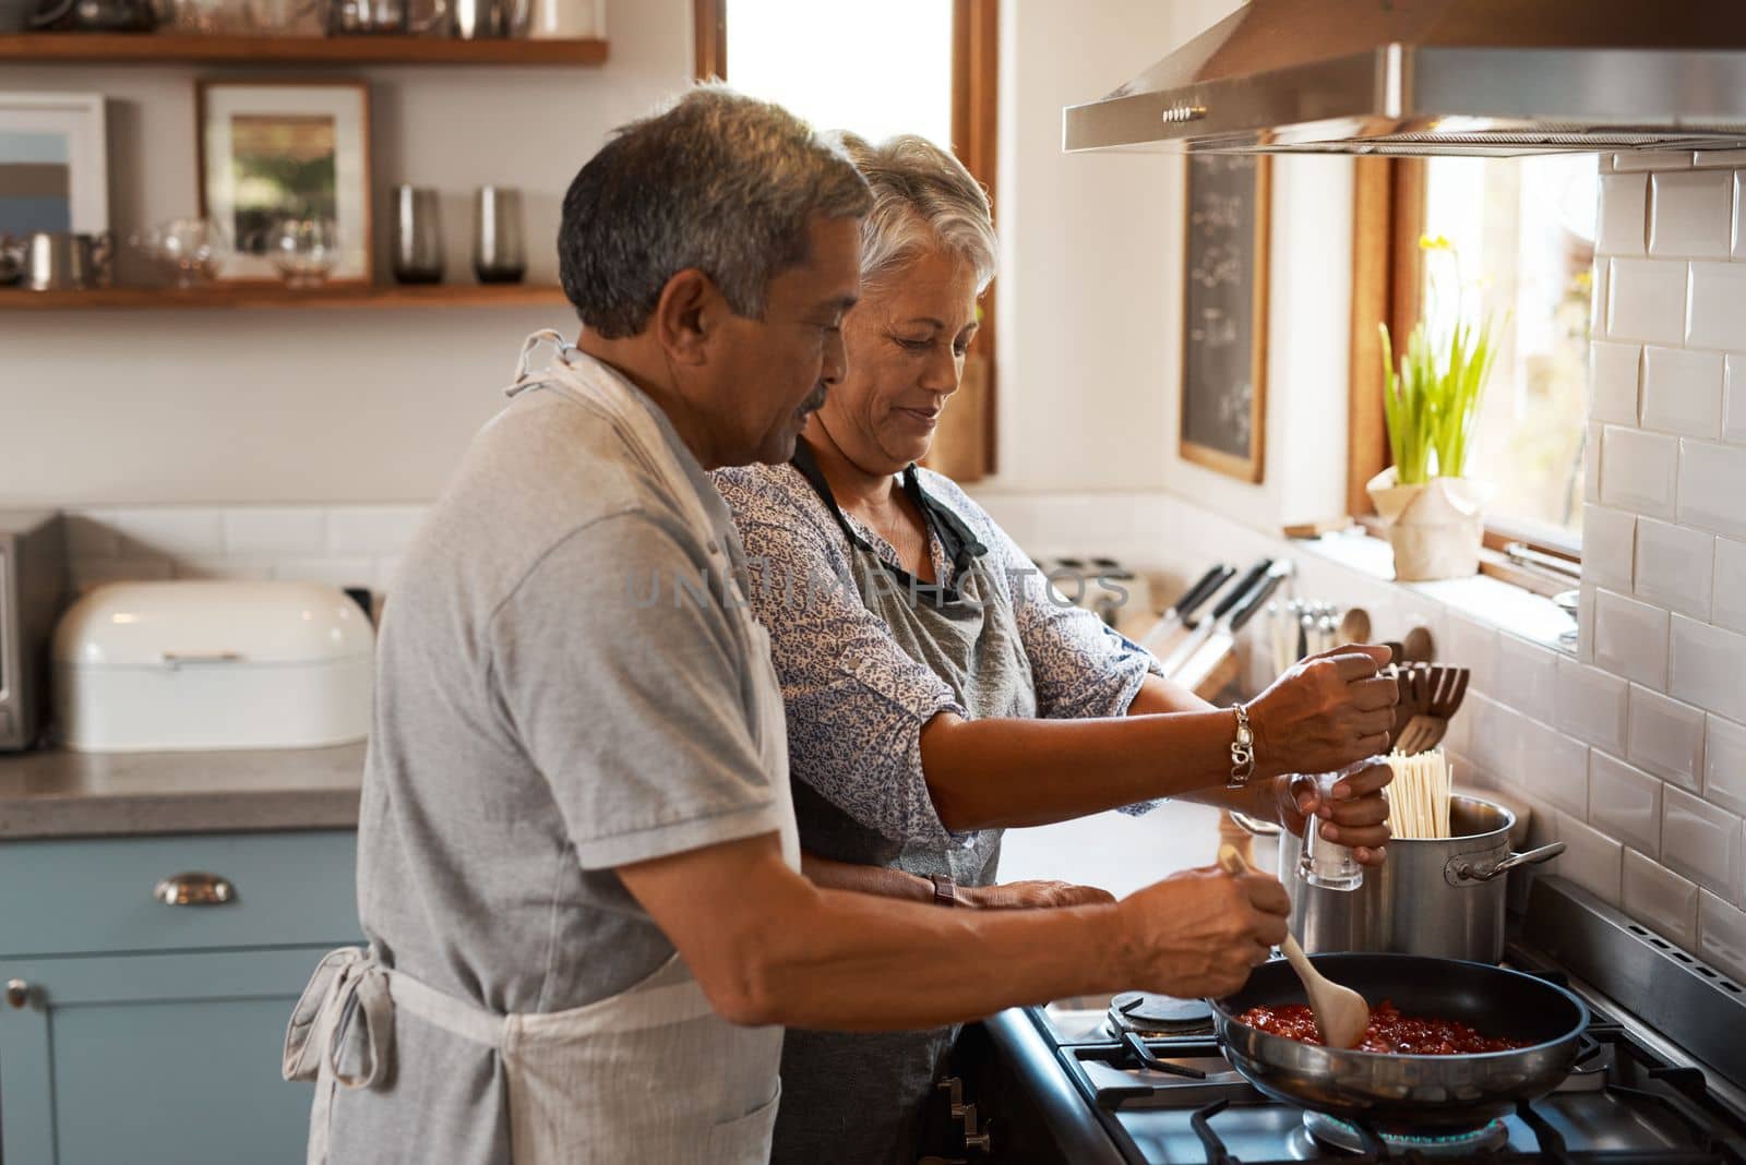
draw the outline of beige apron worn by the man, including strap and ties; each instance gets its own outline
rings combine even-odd
[[[559,361],[529,375],[527,358],[545,340],[559,347]],[[695,487],[625,382],[606,364],[574,354],[557,333],[536,333],[522,347],[510,394],[531,387],[606,413],[643,467],[667,485],[709,548],[711,569],[728,579],[726,605],[739,612],[733,617],[758,661],[753,731],[784,816],[782,858],[798,870],[787,726],[770,638],[751,616]],[[309,1165],[327,1165],[335,1088],[370,1088],[388,1080],[396,1008],[402,1022],[416,1015],[498,1052],[517,1165],[763,1165],[770,1156],[782,1029],[723,1020],[677,954],[634,987],[587,1006],[496,1015],[381,966],[361,947],[342,947],[321,959],[285,1034],[285,1078],[316,1081]],[[342,1067],[342,1046],[347,1064],[356,1053],[358,1071]]]

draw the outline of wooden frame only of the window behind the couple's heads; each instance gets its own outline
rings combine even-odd
[[[697,80],[728,77],[728,2],[691,0]],[[732,82],[730,82],[732,84]],[[995,228],[1000,206],[995,199],[999,176],[1000,120],[1000,0],[952,0],[952,150],[971,176],[988,192]],[[999,469],[999,394],[995,382],[995,293],[999,277],[981,296],[981,324],[971,359],[981,363],[985,377],[983,466],[981,474],[959,473],[974,481]],[[966,378],[969,378],[966,371]]]

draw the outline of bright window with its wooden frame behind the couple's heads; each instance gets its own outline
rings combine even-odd
[[[697,75],[779,101],[821,129],[878,141],[913,133],[950,145],[995,188],[999,0],[693,0]],[[894,65],[896,63],[896,65]],[[730,72],[732,70],[732,72]],[[993,208],[999,225],[1000,208]],[[964,370],[969,433],[936,438],[931,464],[973,481],[995,471],[993,296]],[[969,401],[976,401],[974,406]]]

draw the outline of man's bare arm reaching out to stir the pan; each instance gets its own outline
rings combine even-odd
[[[1130,987],[1220,996],[1285,937],[1271,877],[1191,870],[1107,905],[941,910],[821,889],[773,834],[618,867],[735,1024],[906,1031]]]

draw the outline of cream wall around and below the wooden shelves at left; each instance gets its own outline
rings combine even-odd
[[[527,192],[529,279],[578,166],[684,85],[690,0],[613,0],[602,68],[372,68],[377,262],[386,190],[438,187],[452,277],[468,192]],[[105,92],[119,234],[194,213],[194,78],[183,66],[9,66],[7,89]],[[264,70],[243,70],[260,77]],[[339,73],[351,75],[351,73]],[[499,406],[546,309],[0,312],[0,501],[54,504],[424,501]]]

